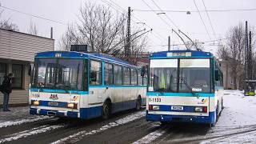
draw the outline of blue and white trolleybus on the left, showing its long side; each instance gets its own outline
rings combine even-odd
[[[106,54],[38,53],[30,86],[30,114],[88,119],[139,109],[146,105],[147,74],[141,71]]]

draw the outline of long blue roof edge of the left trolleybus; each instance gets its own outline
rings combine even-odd
[[[94,58],[106,62],[113,62],[120,65],[133,66],[129,62],[123,61],[120,58],[114,58],[108,54],[98,54],[98,53],[83,53],[77,51],[45,51],[41,53],[37,53],[35,58]]]

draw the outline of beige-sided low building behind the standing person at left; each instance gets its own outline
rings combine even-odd
[[[53,51],[54,39],[43,38],[12,30],[0,29],[0,82],[6,74],[13,73],[13,92],[10,105],[26,105],[29,101],[30,65],[34,54]],[[0,106],[3,95],[0,93]]]

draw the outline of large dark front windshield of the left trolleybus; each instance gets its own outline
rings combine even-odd
[[[37,58],[32,86],[82,90],[82,69],[82,59]]]

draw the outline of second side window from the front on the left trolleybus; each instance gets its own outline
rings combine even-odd
[[[104,84],[113,85],[113,65],[105,63],[104,65]]]

